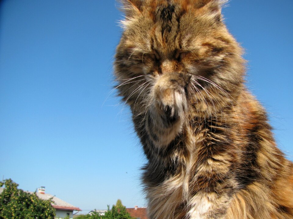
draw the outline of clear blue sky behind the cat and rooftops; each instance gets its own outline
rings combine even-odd
[[[146,161],[127,106],[111,93],[123,16],[115,0],[6,0],[0,6],[0,177],[83,210],[146,205]],[[292,160],[293,1],[231,0],[247,85]]]

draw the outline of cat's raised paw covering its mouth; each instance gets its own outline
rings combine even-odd
[[[162,75],[154,85],[154,104],[161,117],[169,122],[177,120],[188,110],[190,75],[171,73]]]

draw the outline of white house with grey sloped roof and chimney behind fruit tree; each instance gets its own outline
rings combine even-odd
[[[4,188],[0,188],[0,194],[2,193]],[[27,193],[33,193],[33,192],[27,192]],[[79,207],[75,207],[59,198],[57,198],[56,196],[50,195],[50,194],[46,194],[45,193],[45,187],[40,187],[38,189],[38,192],[36,193],[36,195],[43,200],[48,200],[48,199],[52,199],[52,201],[54,203],[52,203],[52,206],[56,209],[56,219],[59,218],[65,218],[68,217],[70,219],[73,218],[73,211],[81,211],[81,209]]]

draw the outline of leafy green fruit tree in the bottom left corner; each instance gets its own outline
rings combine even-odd
[[[52,200],[42,200],[36,193],[17,189],[11,179],[0,181],[5,189],[0,194],[0,219],[54,219]]]

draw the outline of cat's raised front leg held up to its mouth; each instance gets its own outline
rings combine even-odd
[[[188,84],[191,76],[182,73],[161,75],[152,91],[146,128],[154,145],[164,147],[180,133],[188,110]]]

